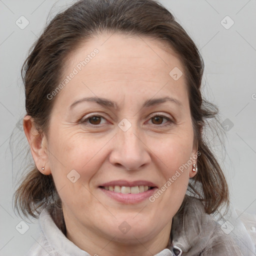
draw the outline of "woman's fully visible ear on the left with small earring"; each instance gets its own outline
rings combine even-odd
[[[34,120],[30,115],[26,115],[23,118],[23,128],[37,169],[42,174],[49,175],[50,169],[48,165],[47,139],[45,134],[36,129]]]

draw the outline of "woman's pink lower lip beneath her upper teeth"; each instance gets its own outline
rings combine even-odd
[[[126,203],[126,204],[132,204],[132,203],[138,203],[145,199],[148,199],[157,189],[157,187],[154,187],[152,189],[149,189],[147,191],[144,191],[142,193],[137,194],[122,194],[122,193],[116,193],[114,191],[106,190],[104,188],[99,187],[99,189],[106,194],[107,196],[115,199],[116,201]]]

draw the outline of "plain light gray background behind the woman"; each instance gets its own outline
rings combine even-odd
[[[255,214],[256,1],[160,2],[173,12],[200,49],[205,62],[203,93],[218,105],[220,121],[226,130],[225,151],[214,135],[209,136],[210,144],[224,168],[233,206]],[[20,126],[25,113],[20,69],[47,18],[70,3],[68,0],[0,0],[0,255],[22,255],[39,234],[38,221],[30,223],[27,219],[29,229],[20,234],[15,226],[20,226],[22,219],[12,208],[15,181],[25,164],[26,142]],[[22,15],[29,21],[23,29],[15,23],[16,20],[21,23]],[[227,15],[230,18],[224,18]],[[234,24],[229,27],[232,20]],[[19,25],[24,24],[23,19]]]

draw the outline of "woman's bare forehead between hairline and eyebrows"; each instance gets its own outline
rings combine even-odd
[[[74,69],[76,74],[65,86],[69,95],[89,88],[100,96],[118,89],[147,97],[158,92],[181,95],[185,90],[184,70],[177,54],[166,42],[145,36],[95,35],[68,55],[62,80]],[[172,70],[178,72],[178,79],[174,79]]]

